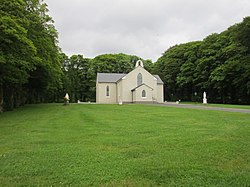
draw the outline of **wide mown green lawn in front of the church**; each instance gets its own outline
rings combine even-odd
[[[148,105],[0,114],[1,186],[249,186],[250,115]]]

